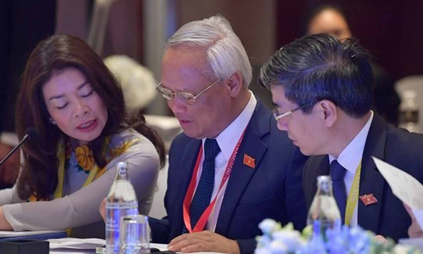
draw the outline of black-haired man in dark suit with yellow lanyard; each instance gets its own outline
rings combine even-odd
[[[371,157],[422,182],[423,135],[396,128],[371,110],[374,81],[365,48],[354,39],[305,36],[277,50],[260,80],[277,105],[277,127],[313,155],[303,174],[307,207],[316,177],[330,174],[343,223],[394,240],[407,237],[410,217]]]

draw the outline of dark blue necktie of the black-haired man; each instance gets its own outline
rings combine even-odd
[[[341,166],[337,160],[332,160],[329,165],[330,177],[332,178],[333,195],[338,204],[339,212],[341,213],[342,224],[345,223],[345,207],[346,207],[346,188],[344,177],[346,169]]]

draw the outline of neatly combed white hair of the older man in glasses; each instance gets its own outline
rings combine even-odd
[[[206,48],[210,75],[228,78],[239,71],[244,85],[251,83],[252,69],[247,52],[231,24],[219,14],[183,25],[170,37],[165,49],[173,46]]]

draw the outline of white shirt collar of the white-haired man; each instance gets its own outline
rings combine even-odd
[[[235,120],[229,124],[219,135],[217,135],[216,140],[219,144],[220,150],[222,151],[225,160],[229,161],[231,158],[233,149],[235,149],[236,144],[241,138],[241,135],[245,128],[247,127],[248,122],[250,122],[251,116],[253,116],[255,105],[257,105],[257,99],[252,91],[250,91],[250,100],[245,106],[244,110],[236,117]],[[240,131],[241,130],[241,131]],[[203,146],[206,138],[202,139]]]

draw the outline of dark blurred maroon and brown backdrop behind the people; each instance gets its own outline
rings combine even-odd
[[[306,14],[322,4],[342,9],[352,35],[371,52],[391,84],[419,75],[415,83],[423,87],[422,0],[0,0],[0,158],[17,142],[16,137],[5,141],[3,134],[14,133],[19,76],[33,47],[49,35],[79,36],[104,58],[127,55],[151,70],[154,86],[160,80],[166,39],[186,22],[222,14],[250,56],[254,74],[250,88],[272,107],[270,92],[257,83],[260,66],[275,50],[303,36]],[[379,103],[394,105],[387,110],[393,112],[398,104],[390,103],[385,92],[392,94],[382,87]],[[165,99],[158,96],[144,112],[171,115]],[[0,188],[12,184],[16,176],[17,170],[2,166]]]

